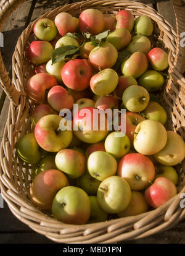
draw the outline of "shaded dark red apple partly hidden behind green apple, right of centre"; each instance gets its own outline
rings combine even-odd
[[[123,92],[130,85],[138,85],[138,82],[134,77],[130,75],[121,75],[118,80],[118,85],[113,91],[113,94],[119,99],[122,100]]]

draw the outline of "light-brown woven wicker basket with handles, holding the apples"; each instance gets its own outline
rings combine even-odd
[[[1,28],[6,17],[23,1],[4,0],[2,2],[3,4],[0,9]],[[104,13],[111,14],[125,8],[132,11],[136,16],[148,15],[154,20],[155,24],[157,24],[155,26],[156,35],[158,31],[164,47],[169,50],[170,79],[167,81],[167,86],[162,93],[162,102],[169,116],[167,129],[175,130],[185,138],[185,79],[183,77],[185,51],[179,41],[181,39],[179,35],[183,32],[184,28],[185,17],[183,15],[185,13],[185,6],[184,1],[173,2],[176,12],[177,35],[171,25],[160,14],[139,2],[123,0],[77,2],[57,7],[57,9],[46,12],[41,17],[54,19],[55,15],[59,14],[59,12],[69,12],[77,16],[87,8],[99,9]],[[178,6],[175,4],[178,4]],[[120,242],[150,236],[174,226],[185,216],[185,209],[179,206],[180,195],[182,192],[185,192],[185,162],[177,166],[179,194],[165,203],[165,205],[162,205],[162,207],[138,216],[117,218],[104,223],[64,224],[38,210],[30,202],[28,191],[35,166],[25,164],[19,160],[15,151],[15,143],[19,140],[20,136],[30,132],[31,129],[33,131],[30,125],[30,113],[31,109],[34,108],[34,104],[28,101],[28,96],[25,92],[25,83],[32,71],[26,58],[25,49],[30,40],[35,22],[36,20],[28,25],[17,41],[12,58],[12,82],[0,56],[0,82],[10,98],[9,115],[0,149],[0,186],[2,197],[6,200],[12,213],[37,233],[43,234],[52,241],[62,243]]]

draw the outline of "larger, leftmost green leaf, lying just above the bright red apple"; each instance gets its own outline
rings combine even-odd
[[[73,56],[75,54],[78,56],[80,47],[76,47],[74,45],[65,45],[59,48],[54,49],[51,53],[51,59],[52,59],[52,64],[55,64],[60,61],[65,61],[69,59],[73,59]]]

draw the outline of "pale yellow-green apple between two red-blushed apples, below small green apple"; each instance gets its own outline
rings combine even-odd
[[[104,151],[94,151],[89,155],[87,161],[89,174],[99,181],[115,175],[117,172],[117,161],[112,155]]]

